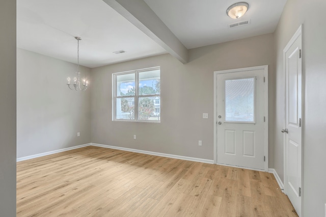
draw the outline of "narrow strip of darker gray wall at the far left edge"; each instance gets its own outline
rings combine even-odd
[[[0,1],[0,216],[16,216],[16,1]]]

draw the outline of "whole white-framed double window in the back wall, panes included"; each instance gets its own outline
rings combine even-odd
[[[160,68],[113,74],[113,120],[160,122]]]

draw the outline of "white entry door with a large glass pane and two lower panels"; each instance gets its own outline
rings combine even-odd
[[[218,164],[265,169],[265,73],[267,66],[216,75]]]

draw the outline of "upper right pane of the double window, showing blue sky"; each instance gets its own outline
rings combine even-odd
[[[139,73],[139,95],[160,93],[160,70]]]

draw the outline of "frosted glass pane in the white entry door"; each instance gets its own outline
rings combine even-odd
[[[254,122],[255,78],[225,80],[225,120]]]

